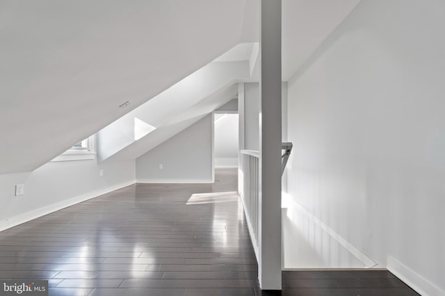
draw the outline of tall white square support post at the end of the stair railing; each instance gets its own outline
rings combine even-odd
[[[260,0],[259,284],[281,290],[281,0]]]

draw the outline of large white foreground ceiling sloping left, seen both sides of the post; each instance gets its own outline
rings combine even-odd
[[[283,0],[284,80],[358,1]],[[0,174],[37,168],[257,42],[257,14],[257,0],[0,1]]]

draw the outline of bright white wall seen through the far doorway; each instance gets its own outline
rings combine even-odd
[[[215,114],[214,116],[215,167],[236,168],[238,167],[238,114]]]

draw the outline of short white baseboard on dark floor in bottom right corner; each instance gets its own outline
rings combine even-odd
[[[445,291],[391,256],[387,269],[422,296],[445,296]]]

